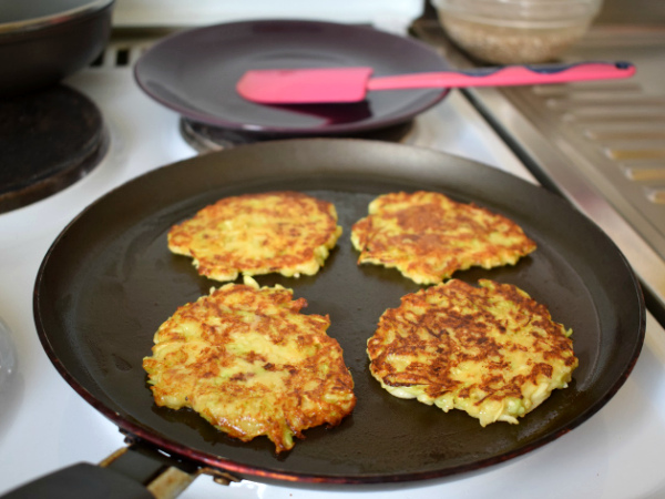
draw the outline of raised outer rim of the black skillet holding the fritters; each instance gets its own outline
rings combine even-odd
[[[577,216],[577,217],[580,217],[580,220],[585,221],[585,223],[589,224],[590,230],[595,231],[597,236],[603,237],[603,240],[604,240],[603,244],[608,243],[610,247],[613,248],[615,255],[620,257],[620,262],[622,262],[623,269],[627,272],[626,277],[628,277],[630,282],[633,283],[633,288],[631,289],[630,295],[633,296],[633,293],[635,294],[635,297],[637,298],[636,304],[640,306],[640,313],[638,313],[638,317],[637,317],[637,322],[638,322],[637,330],[633,333],[634,337],[633,337],[633,342],[631,343],[632,350],[628,355],[631,360],[624,366],[624,369],[621,371],[620,376],[616,377],[616,379],[614,380],[614,383],[612,384],[610,389],[607,389],[606,393],[602,397],[600,397],[597,400],[595,400],[594,404],[589,406],[586,408],[586,410],[584,410],[583,413],[577,415],[575,420],[566,424],[565,427],[559,428],[556,431],[552,431],[551,434],[536,439],[535,441],[533,441],[532,444],[530,444],[528,446],[522,446],[513,452],[505,452],[504,455],[502,455],[500,457],[487,458],[487,459],[473,462],[471,465],[462,465],[462,466],[456,466],[452,468],[448,468],[444,472],[436,470],[436,471],[410,472],[408,475],[386,476],[386,475],[381,475],[381,473],[365,473],[362,476],[350,476],[349,477],[348,475],[340,476],[340,475],[335,475],[335,473],[321,476],[321,475],[303,473],[303,472],[283,472],[283,471],[275,470],[275,469],[262,468],[262,467],[256,467],[256,466],[247,466],[247,465],[238,464],[238,462],[234,461],[233,459],[221,458],[218,456],[211,456],[207,452],[198,451],[186,445],[182,445],[180,442],[163,438],[162,436],[158,435],[158,432],[154,431],[154,429],[152,429],[150,427],[146,428],[145,425],[142,425],[140,421],[135,422],[131,416],[122,415],[119,411],[115,411],[113,408],[108,407],[103,401],[99,400],[91,391],[89,391],[83,386],[84,384],[82,384],[80,380],[78,380],[75,378],[75,376],[72,376],[70,374],[69,369],[61,361],[60,357],[58,356],[58,354],[54,350],[53,345],[50,342],[49,333],[45,329],[45,326],[43,323],[43,317],[41,316],[41,308],[40,308],[41,302],[40,301],[41,301],[41,292],[43,291],[42,286],[43,286],[43,281],[44,281],[44,273],[49,268],[50,258],[52,257],[54,251],[58,248],[58,246],[59,246],[60,242],[63,240],[63,237],[65,237],[69,234],[69,232],[72,231],[73,227],[76,226],[76,223],[79,223],[80,220],[82,220],[85,216],[90,216],[91,212],[93,212],[101,204],[108,202],[108,200],[112,195],[119,195],[119,193],[122,193],[122,191],[124,189],[127,189],[126,187],[127,184],[136,185],[136,183],[139,183],[139,182],[146,182],[147,180],[152,179],[154,175],[160,175],[160,174],[167,175],[168,169],[173,169],[170,171],[174,171],[175,169],[178,169],[178,167],[180,169],[193,167],[192,164],[194,164],[194,165],[197,163],[205,164],[211,159],[214,161],[217,157],[222,157],[225,154],[228,155],[229,153],[243,154],[243,153],[246,153],[247,151],[249,151],[250,153],[258,154],[258,153],[265,152],[266,150],[268,150],[268,152],[270,152],[270,150],[273,150],[275,147],[277,150],[283,149],[283,147],[288,150],[290,147],[294,151],[297,151],[299,147],[317,149],[317,147],[323,147],[323,146],[328,146],[328,147],[332,147],[332,149],[341,147],[342,150],[345,149],[345,146],[351,147],[351,149],[360,147],[359,149],[360,151],[362,151],[364,149],[369,149],[370,146],[386,149],[386,150],[390,150],[391,147],[398,147],[401,151],[408,150],[408,151],[412,151],[415,153],[418,152],[419,154],[424,154],[426,156],[430,156],[432,159],[440,159],[440,160],[447,159],[447,161],[454,161],[456,163],[460,163],[461,166],[471,167],[472,170],[480,167],[483,171],[483,173],[492,172],[491,175],[494,175],[494,176],[498,175],[499,177],[505,180],[509,184],[511,184],[513,186],[522,185],[523,189],[535,190],[534,192],[538,192],[538,194],[540,196],[543,196],[543,198],[548,198],[546,203],[554,203],[555,205],[557,205],[557,207],[561,207],[561,208],[565,207],[566,210],[570,211],[571,216]],[[474,165],[474,166],[471,166],[471,165]],[[166,172],[166,173],[164,173],[164,172]],[[348,172],[345,172],[345,173],[348,173]],[[391,143],[376,142],[376,141],[350,140],[350,139],[293,139],[293,140],[284,140],[284,141],[273,141],[273,142],[263,143],[263,144],[252,144],[252,145],[238,146],[235,150],[222,151],[219,153],[213,153],[213,154],[206,155],[206,156],[195,156],[190,160],[184,160],[181,162],[176,162],[176,163],[173,163],[170,165],[162,166],[160,169],[146,172],[143,175],[132,179],[131,181],[126,182],[125,184],[122,184],[122,185],[111,190],[110,192],[105,193],[100,198],[98,198],[95,202],[91,203],[91,205],[85,207],[74,220],[72,220],[66,225],[66,227],[58,235],[58,237],[55,238],[55,241],[53,242],[53,244],[47,252],[47,254],[40,265],[40,268],[39,268],[39,272],[37,275],[37,279],[35,279],[34,295],[33,295],[33,310],[34,310],[34,319],[35,319],[38,336],[40,338],[40,342],[42,343],[42,346],[43,346],[47,355],[49,356],[50,360],[52,361],[52,364],[54,365],[57,370],[61,374],[61,376],[63,376],[63,378],[66,380],[66,383],[70,386],[72,386],[76,393],[79,393],[79,395],[81,395],[96,410],[99,410],[101,414],[103,414],[105,417],[108,417],[110,420],[112,420],[116,426],[119,426],[121,431],[126,431],[126,432],[137,437],[141,440],[147,441],[152,446],[156,446],[160,449],[166,449],[170,454],[173,454],[180,458],[194,460],[200,464],[204,464],[205,466],[211,466],[213,468],[218,468],[224,471],[229,471],[232,473],[238,475],[242,478],[259,479],[263,481],[276,480],[279,482],[299,481],[299,482],[305,482],[305,483],[320,483],[320,482],[326,482],[326,483],[386,483],[386,482],[429,480],[429,479],[433,479],[433,478],[457,477],[460,473],[484,469],[488,466],[498,465],[500,462],[510,460],[518,456],[526,455],[528,452],[534,450],[535,448],[542,447],[543,445],[561,437],[562,435],[569,432],[573,428],[577,427],[579,425],[581,425],[582,422],[587,420],[591,416],[593,416],[595,413],[597,413],[616,394],[616,391],[623,386],[623,384],[630,376],[635,363],[637,361],[640,352],[641,352],[643,343],[644,343],[645,326],[646,326],[646,324],[645,324],[646,310],[645,310],[645,305],[644,305],[644,298],[642,295],[640,283],[638,283],[635,274],[632,272],[628,262],[626,261],[624,255],[621,253],[621,251],[616,247],[616,245],[610,240],[610,237],[606,234],[604,234],[600,230],[600,227],[597,227],[597,225],[595,225],[592,221],[586,218],[582,213],[577,212],[574,207],[572,207],[570,204],[567,204],[567,202],[565,200],[563,200],[559,196],[555,196],[554,194],[550,193],[549,191],[544,190],[543,187],[530,184],[521,179],[518,179],[510,174],[507,174],[505,172],[498,171],[490,166],[482,165],[478,162],[473,162],[471,160],[467,160],[463,157],[458,157],[458,156],[453,156],[451,154],[441,153],[441,152],[437,152],[437,151],[429,151],[429,150],[421,150],[419,147],[406,146],[402,144],[391,144]]]

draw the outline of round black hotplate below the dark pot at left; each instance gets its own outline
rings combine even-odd
[[[70,186],[109,141],[98,106],[68,86],[0,100],[0,213]]]

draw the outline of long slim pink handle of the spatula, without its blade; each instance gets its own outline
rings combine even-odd
[[[630,62],[582,62],[575,64],[509,65],[470,71],[376,77],[367,83],[368,90],[467,88],[533,85],[573,81],[612,80],[630,78],[635,67]]]

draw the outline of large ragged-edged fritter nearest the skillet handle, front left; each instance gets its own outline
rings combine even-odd
[[[243,441],[266,435],[277,452],[355,405],[354,380],[328,316],[304,315],[282,286],[227,284],[180,307],[143,359],[157,406],[190,407]]]

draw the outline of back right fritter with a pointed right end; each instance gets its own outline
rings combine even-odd
[[[358,264],[397,268],[418,284],[438,284],[471,266],[511,264],[536,247],[511,220],[443,194],[390,193],[369,204],[351,228]]]

